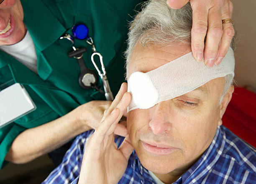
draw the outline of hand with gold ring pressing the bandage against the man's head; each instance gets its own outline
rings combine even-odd
[[[167,0],[167,4],[179,9],[189,0]],[[233,4],[231,0],[190,0],[192,7],[191,49],[196,60],[204,60],[207,66],[219,65],[228,52],[235,34],[232,23],[222,24],[231,19]],[[204,45],[205,35],[206,42]],[[205,48],[205,50],[204,50]]]

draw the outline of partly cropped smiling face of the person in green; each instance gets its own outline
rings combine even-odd
[[[4,0],[0,4],[0,45],[12,45],[26,34],[20,0]]]

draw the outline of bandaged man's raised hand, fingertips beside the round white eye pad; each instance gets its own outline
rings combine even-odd
[[[100,126],[87,141],[84,149],[79,184],[113,184],[123,176],[128,159],[133,152],[126,135],[118,148],[114,142],[114,130],[131,102],[131,94],[123,83],[113,103],[101,119]]]

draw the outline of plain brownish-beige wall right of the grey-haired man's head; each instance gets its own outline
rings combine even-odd
[[[237,32],[235,80],[256,89],[256,0],[232,0]]]

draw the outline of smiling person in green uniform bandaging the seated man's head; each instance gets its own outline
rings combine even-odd
[[[95,129],[104,110],[110,106],[104,94],[79,85],[79,64],[77,59],[68,57],[73,49],[63,47],[59,37],[65,33],[72,34],[75,24],[83,23],[88,27],[97,52],[103,56],[110,88],[115,96],[125,80],[122,55],[126,49],[127,21],[132,19],[134,7],[140,1],[0,2],[0,86],[22,84],[37,107],[0,129],[0,168],[7,162],[26,163],[49,152],[58,164],[69,148],[69,145],[66,148],[63,145],[76,135]],[[227,7],[227,3],[225,5],[223,7]],[[208,5],[205,7],[210,8]],[[214,14],[218,15],[218,12]],[[201,36],[203,34],[206,32]],[[217,40],[220,39],[222,35]],[[203,42],[204,39],[201,40]],[[223,42],[227,43],[226,40]],[[218,46],[219,42],[214,44]],[[97,73],[91,62],[91,45],[76,39],[74,47],[87,48],[83,60],[90,70]],[[197,51],[201,52],[200,49]],[[100,78],[97,86],[103,90]],[[120,125],[117,133],[126,134],[125,131]],[[54,151],[60,147],[60,151]]]

